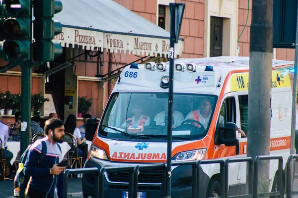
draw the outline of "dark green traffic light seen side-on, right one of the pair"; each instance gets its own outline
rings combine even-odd
[[[53,43],[55,35],[62,32],[62,24],[54,21],[54,15],[62,10],[60,0],[34,0],[33,15],[33,59],[53,61],[62,52],[62,46]]]

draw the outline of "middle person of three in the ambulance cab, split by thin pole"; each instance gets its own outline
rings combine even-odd
[[[168,118],[168,100],[164,101],[163,104],[164,111],[157,113],[154,117],[154,121],[157,126],[167,126]],[[184,120],[184,116],[180,111],[176,111],[176,102],[173,103],[173,128],[180,126],[181,122]]]

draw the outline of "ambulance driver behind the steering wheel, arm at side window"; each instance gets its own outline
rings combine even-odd
[[[200,122],[205,129],[207,129],[209,120],[211,117],[211,112],[212,112],[211,99],[203,98],[199,102],[199,109],[189,112],[185,120],[196,120]],[[220,115],[219,123],[220,123],[220,126],[224,126],[224,117],[222,115]],[[192,122],[192,124],[195,124],[197,127],[201,127],[198,123]]]

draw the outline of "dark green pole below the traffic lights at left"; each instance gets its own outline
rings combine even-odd
[[[21,153],[26,150],[30,144],[31,135],[31,81],[32,81],[32,65],[30,61],[26,61],[21,65],[22,68],[22,86],[21,86]]]

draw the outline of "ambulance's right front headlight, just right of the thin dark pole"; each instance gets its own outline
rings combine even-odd
[[[179,152],[172,157],[172,161],[201,160],[205,157],[206,148]]]

